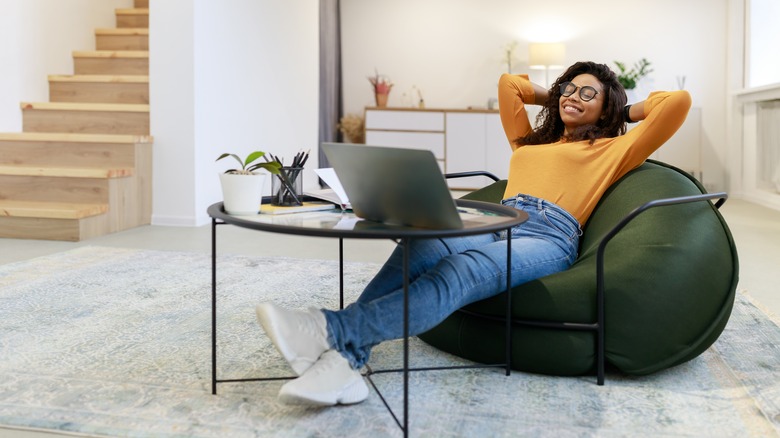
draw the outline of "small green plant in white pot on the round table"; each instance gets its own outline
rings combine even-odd
[[[257,162],[265,156],[265,152],[254,151],[245,160],[236,154],[224,153],[217,158],[219,161],[233,157],[241,166],[228,169],[219,175],[222,185],[222,198],[225,212],[229,214],[257,214],[263,200],[263,184],[265,173],[256,171],[265,169],[272,174],[278,174],[281,163],[277,161]]]

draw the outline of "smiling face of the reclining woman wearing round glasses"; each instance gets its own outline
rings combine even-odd
[[[588,98],[593,94],[590,89],[582,91],[583,87],[595,89],[595,97],[587,101],[583,100],[583,96]],[[566,127],[564,129],[566,135],[573,132],[578,126],[595,124],[601,117],[604,106],[604,86],[595,76],[587,73],[576,76],[568,86],[568,91],[572,90],[574,91],[569,96],[561,94],[558,100],[558,110]]]

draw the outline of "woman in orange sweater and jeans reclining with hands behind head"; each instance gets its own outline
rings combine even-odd
[[[578,62],[549,90],[503,75],[499,112],[513,149],[502,203],[528,213],[512,230],[513,286],[567,269],[577,258],[581,224],[604,191],[639,166],[682,125],[685,91],[652,93],[626,106],[603,64]],[[534,130],[525,105],[543,105]],[[644,120],[626,133],[626,122]],[[409,331],[416,335],[455,310],[505,290],[506,238],[496,233],[410,244]],[[260,324],[300,376],[284,384],[287,403],[350,404],[368,387],[357,371],[371,348],[402,336],[399,249],[353,304],[340,311],[257,307]]]

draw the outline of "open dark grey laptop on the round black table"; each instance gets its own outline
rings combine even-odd
[[[323,143],[356,216],[390,225],[463,228],[436,157],[428,150]]]

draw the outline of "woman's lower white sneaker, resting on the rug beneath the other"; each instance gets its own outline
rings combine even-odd
[[[366,398],[368,386],[363,376],[336,350],[323,353],[314,366],[279,391],[279,400],[287,404],[348,405]]]

